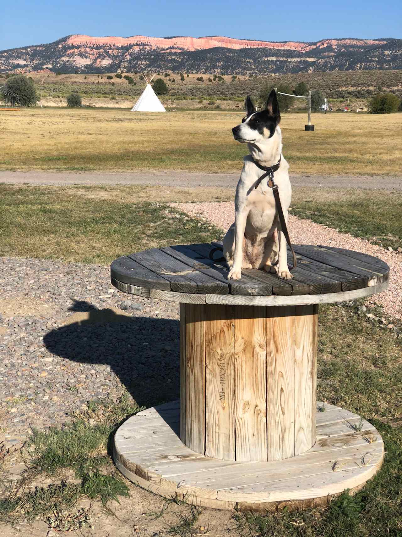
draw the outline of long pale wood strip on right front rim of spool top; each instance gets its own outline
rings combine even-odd
[[[331,304],[332,302],[342,302],[344,300],[355,300],[365,296],[382,293],[388,288],[388,281],[382,284],[368,286],[363,289],[353,291],[342,291],[340,293],[327,293],[321,295],[300,295],[300,296],[241,296],[241,295],[205,295],[207,304],[234,304],[239,306],[300,306],[301,304]]]

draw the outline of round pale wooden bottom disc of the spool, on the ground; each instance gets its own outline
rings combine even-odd
[[[322,403],[317,403],[317,409]],[[115,434],[114,460],[133,483],[165,497],[215,509],[277,511],[326,505],[363,487],[382,465],[384,445],[360,416],[324,405],[317,441],[306,453],[272,462],[235,462],[191,451],[178,437],[180,402],[139,412]]]

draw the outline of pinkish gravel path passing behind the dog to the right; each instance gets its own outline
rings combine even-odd
[[[202,216],[218,228],[226,231],[234,222],[234,206],[232,202],[172,204],[192,216]],[[381,294],[373,296],[370,301],[380,304],[386,314],[392,318],[402,318],[402,254],[388,251],[375,246],[362,238],[353,237],[348,233],[316,224],[289,215],[289,235],[294,243],[327,244],[337,248],[347,248],[379,257],[390,266],[390,285]]]

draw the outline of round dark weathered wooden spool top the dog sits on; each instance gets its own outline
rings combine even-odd
[[[226,263],[209,258],[216,245],[167,246],[120,257],[111,264],[111,282],[126,293],[161,300],[271,306],[354,300],[388,287],[390,269],[381,259],[306,244],[294,245],[292,280],[256,269],[243,270],[241,280],[228,280]]]

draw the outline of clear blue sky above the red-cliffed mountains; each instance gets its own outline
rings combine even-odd
[[[401,0],[19,0],[3,2],[0,50],[69,34],[227,35],[266,41],[402,38]]]

